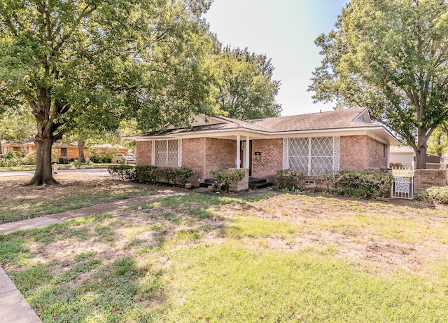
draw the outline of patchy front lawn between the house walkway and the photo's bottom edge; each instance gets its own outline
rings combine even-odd
[[[446,211],[192,193],[0,235],[0,264],[43,322],[444,322]]]

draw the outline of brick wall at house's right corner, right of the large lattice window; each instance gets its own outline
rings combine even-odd
[[[339,138],[340,170],[379,170],[387,168],[387,146],[368,136]]]

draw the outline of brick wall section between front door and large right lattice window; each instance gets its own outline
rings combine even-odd
[[[255,152],[260,152],[256,160]],[[252,176],[269,178],[283,168],[283,139],[252,140]]]

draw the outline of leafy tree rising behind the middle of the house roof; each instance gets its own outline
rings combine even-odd
[[[215,60],[214,97],[224,114],[243,120],[280,115],[281,105],[275,101],[280,81],[272,79],[274,67],[266,55],[226,46]]]

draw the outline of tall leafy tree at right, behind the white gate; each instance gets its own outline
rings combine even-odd
[[[316,39],[314,99],[368,107],[425,168],[428,138],[448,118],[447,1],[352,0],[335,27]]]

